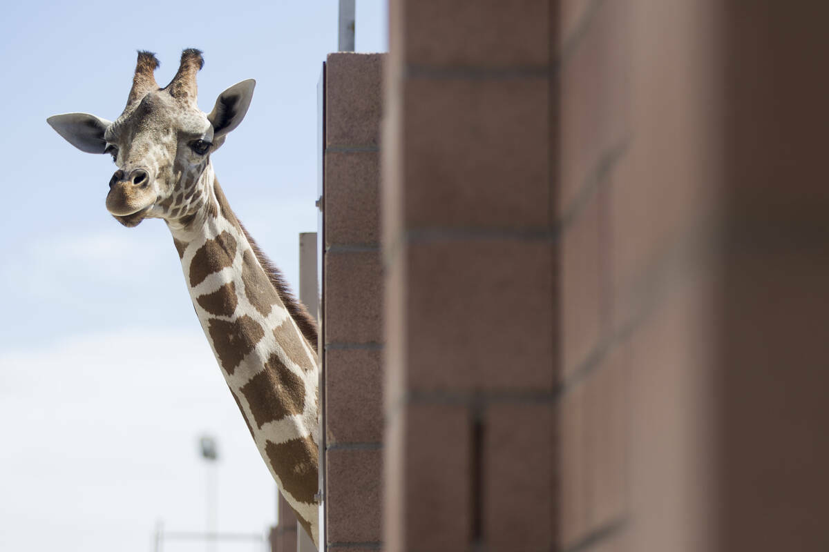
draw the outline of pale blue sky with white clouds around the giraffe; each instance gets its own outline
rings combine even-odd
[[[316,87],[337,48],[337,2],[4,10],[0,550],[148,550],[158,519],[201,530],[201,432],[220,442],[220,529],[264,530],[274,485],[201,333],[167,228],[116,223],[104,209],[109,156],[75,150],[46,118],[116,118],[138,49],[158,54],[161,84],[183,48],[203,50],[207,112],[222,90],[256,79],[250,111],[213,165],[295,288],[298,233],[317,229]],[[383,0],[357,0],[356,50],[387,48],[386,17]]]

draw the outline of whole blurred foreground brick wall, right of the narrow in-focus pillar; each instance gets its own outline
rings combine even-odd
[[[387,550],[824,550],[827,8],[390,1]]]

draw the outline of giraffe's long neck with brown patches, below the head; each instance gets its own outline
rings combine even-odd
[[[318,538],[317,357],[230,210],[210,165],[205,206],[169,224],[201,327],[259,454]]]

